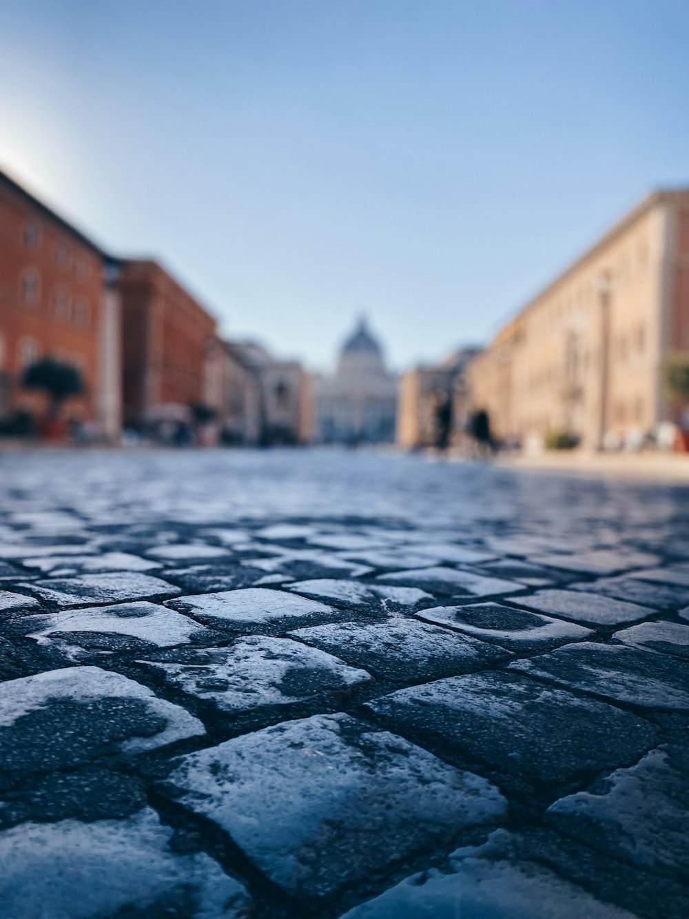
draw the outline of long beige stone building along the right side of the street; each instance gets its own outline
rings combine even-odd
[[[689,189],[649,195],[505,325],[469,367],[471,403],[503,440],[632,445],[677,420],[675,352],[689,352]]]

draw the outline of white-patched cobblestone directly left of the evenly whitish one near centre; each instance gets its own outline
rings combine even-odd
[[[110,607],[82,607],[43,616],[28,616],[24,622],[32,631],[28,638],[50,644],[56,637],[77,633],[119,635],[149,642],[159,648],[186,644],[208,633],[205,626],[193,619],[159,606],[157,603],[122,603]],[[93,647],[94,642],[90,641]],[[109,647],[107,641],[104,644]],[[119,643],[118,648],[126,647]]]

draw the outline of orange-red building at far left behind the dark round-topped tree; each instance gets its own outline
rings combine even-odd
[[[85,391],[65,415],[119,432],[117,262],[0,172],[0,420],[37,417],[46,397],[21,385],[42,357],[79,369]]]

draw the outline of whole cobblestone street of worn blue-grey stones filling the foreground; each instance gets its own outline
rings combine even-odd
[[[0,454],[3,919],[685,919],[689,489]]]

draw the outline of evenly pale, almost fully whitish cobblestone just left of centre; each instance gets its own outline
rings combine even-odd
[[[235,625],[266,625],[296,619],[343,616],[342,610],[304,596],[266,587],[227,590],[218,594],[181,596],[168,600],[167,607],[189,613],[209,625],[231,628]]]

